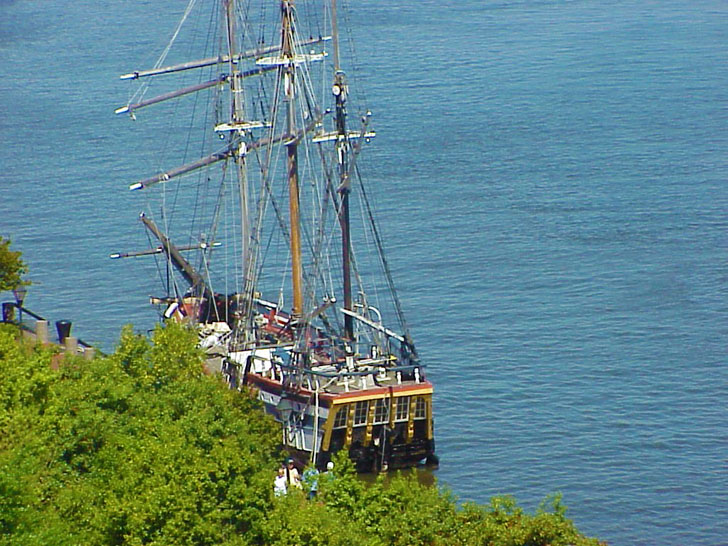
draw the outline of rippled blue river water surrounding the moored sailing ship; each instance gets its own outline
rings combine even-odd
[[[153,266],[107,257],[146,244],[118,75],[184,4],[0,0],[0,234],[27,307],[105,349],[155,321]],[[725,544],[728,3],[351,4],[440,483]]]

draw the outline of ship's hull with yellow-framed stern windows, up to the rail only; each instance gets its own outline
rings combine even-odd
[[[283,443],[299,460],[323,468],[333,453],[345,449],[361,472],[437,465],[429,381],[331,370],[310,374],[306,387],[291,392],[286,372],[271,365],[248,371],[241,380],[258,391],[266,413],[284,425]]]

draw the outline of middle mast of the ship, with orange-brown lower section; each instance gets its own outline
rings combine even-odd
[[[293,0],[281,2],[283,16],[281,31],[281,53],[288,59],[293,59]],[[288,63],[282,71],[284,89],[287,101],[287,129],[292,135],[296,132],[295,119],[295,75],[296,67],[293,62]],[[301,263],[301,219],[298,202],[298,141],[287,143],[288,165],[288,210],[291,224],[291,283],[293,288],[293,315],[300,317],[303,314],[303,266]]]

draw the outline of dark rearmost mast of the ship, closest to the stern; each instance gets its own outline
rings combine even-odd
[[[331,87],[336,101],[336,158],[339,169],[339,193],[341,208],[339,225],[341,226],[341,261],[343,265],[344,309],[353,311],[351,295],[351,227],[349,221],[349,194],[351,193],[348,173],[349,143],[346,135],[346,94],[348,91],[346,77],[339,64],[339,29],[336,19],[336,0],[331,0],[331,26],[334,48],[334,83]],[[344,335],[354,338],[354,319],[344,315]]]

